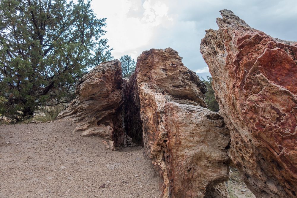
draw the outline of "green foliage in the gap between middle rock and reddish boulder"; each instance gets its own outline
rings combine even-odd
[[[208,105],[208,109],[211,111],[219,112],[219,104],[214,95],[214,90],[212,88],[212,77],[207,76],[207,80],[202,78],[203,83],[207,87],[207,92],[205,94],[205,102]]]

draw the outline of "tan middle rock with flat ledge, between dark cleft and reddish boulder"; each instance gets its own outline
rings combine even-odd
[[[228,178],[228,129],[219,114],[204,108],[206,87],[178,53],[143,52],[127,86],[133,96],[125,106],[140,109],[140,115],[129,113],[136,117],[130,121],[142,121],[144,152],[162,176],[162,196],[204,197],[217,188],[217,197],[228,197],[217,185]]]

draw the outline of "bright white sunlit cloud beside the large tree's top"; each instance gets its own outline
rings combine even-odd
[[[93,1],[92,8],[98,18],[107,18],[105,37],[113,47],[115,58],[130,55],[137,59],[141,51],[149,45],[157,26],[170,21],[168,7],[160,1],[146,0],[143,4],[136,0]],[[138,13],[131,15],[130,12]],[[148,50],[148,49],[147,49]]]

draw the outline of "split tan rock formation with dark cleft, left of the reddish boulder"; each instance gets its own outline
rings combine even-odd
[[[109,140],[102,141],[108,149],[131,138],[143,145],[164,198],[227,198],[229,131],[205,108],[206,86],[181,59],[171,48],[145,51],[129,80],[118,60],[104,62],[76,83],[77,97],[59,118],[73,119],[84,136]]]

